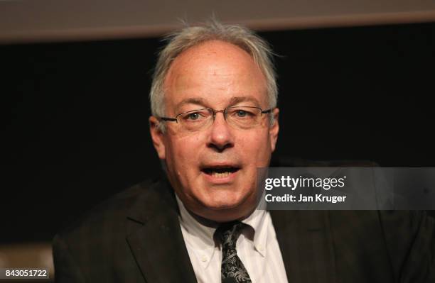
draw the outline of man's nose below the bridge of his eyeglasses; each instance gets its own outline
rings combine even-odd
[[[234,137],[227,121],[225,121],[223,111],[215,113],[215,121],[210,127],[210,137],[208,147],[218,152],[234,146]]]

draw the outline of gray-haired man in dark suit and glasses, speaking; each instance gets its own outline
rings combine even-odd
[[[168,178],[56,235],[57,282],[434,282],[424,213],[256,209],[279,132],[270,57],[238,26],[171,37],[149,118]]]

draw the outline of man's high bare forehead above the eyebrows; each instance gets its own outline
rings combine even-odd
[[[231,43],[210,40],[178,55],[166,75],[165,103],[175,111],[181,101],[203,101],[205,106],[225,106],[234,97],[267,106],[264,74],[245,50]]]

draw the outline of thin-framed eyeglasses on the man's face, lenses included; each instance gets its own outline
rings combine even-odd
[[[175,118],[158,117],[161,121],[176,122],[182,131],[200,131],[210,126],[216,113],[222,112],[228,124],[235,128],[247,129],[259,126],[263,114],[271,113],[272,109],[262,110],[254,106],[230,106],[223,110],[203,108],[180,113]]]

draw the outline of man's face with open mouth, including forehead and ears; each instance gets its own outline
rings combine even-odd
[[[164,82],[166,116],[228,106],[268,109],[266,80],[252,57],[235,45],[211,40],[178,55]],[[186,208],[213,221],[247,216],[257,202],[257,167],[267,167],[278,135],[263,114],[254,128],[229,125],[222,112],[200,131],[166,123],[166,133],[150,118],[151,135],[168,179]],[[223,172],[223,173],[222,173]]]

